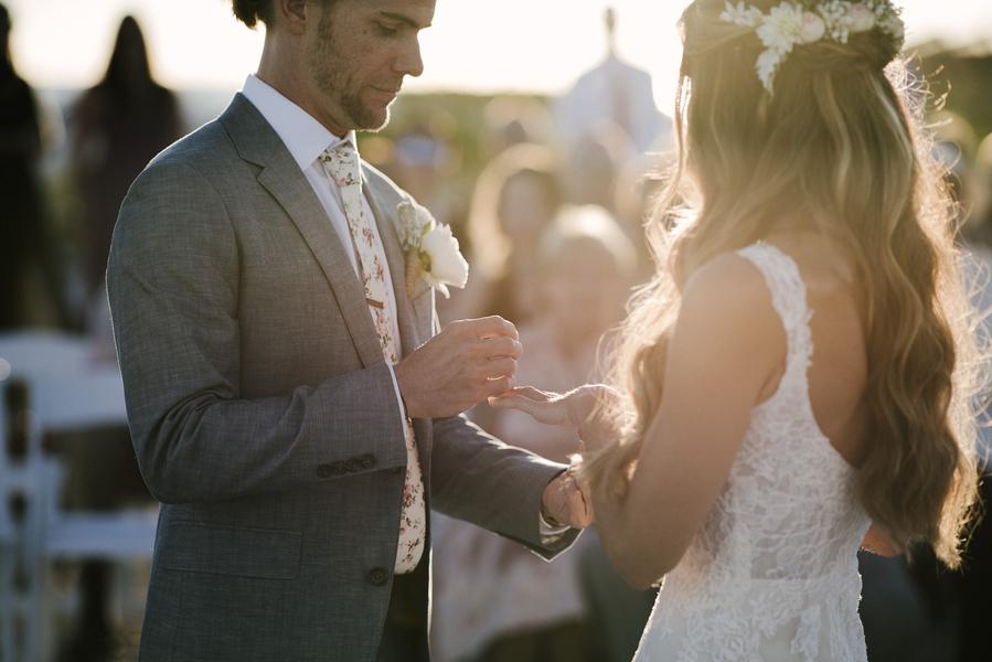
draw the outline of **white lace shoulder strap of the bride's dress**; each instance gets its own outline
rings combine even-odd
[[[804,375],[813,355],[813,339],[810,331],[812,311],[807,303],[806,282],[799,267],[779,248],[764,242],[742,248],[737,255],[761,271],[771,292],[771,305],[786,330],[788,348],[786,372],[798,371]]]

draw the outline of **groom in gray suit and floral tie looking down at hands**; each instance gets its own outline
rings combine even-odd
[[[434,4],[234,0],[257,75],[125,201],[108,292],[163,503],[145,662],[426,660],[431,508],[547,558],[587,523],[564,467],[460,415],[512,384],[516,331],[434,334],[408,197],[358,157]]]

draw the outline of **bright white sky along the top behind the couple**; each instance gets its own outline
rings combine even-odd
[[[262,32],[231,15],[228,0],[0,0],[14,21],[12,50],[38,87],[81,87],[106,66],[119,20],[138,18],[153,66],[167,85],[237,89],[254,71]],[[438,0],[423,34],[426,73],[414,89],[557,93],[600,60],[602,11],[617,8],[620,54],[654,75],[671,106],[687,0]],[[992,43],[989,0],[905,0],[909,39]]]

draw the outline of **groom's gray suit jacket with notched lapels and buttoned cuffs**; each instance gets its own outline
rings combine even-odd
[[[406,194],[364,177],[408,353],[436,328],[434,292],[407,296]],[[346,248],[244,97],[135,182],[107,289],[138,462],[163,504],[140,659],[373,660],[402,415]],[[430,506],[548,558],[574,540],[541,545],[541,494],[561,466],[463,417],[415,427]]]

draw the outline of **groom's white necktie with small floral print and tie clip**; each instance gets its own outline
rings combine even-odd
[[[396,311],[393,310],[386,282],[386,254],[382,242],[372,232],[372,218],[365,213],[362,197],[362,171],[359,153],[350,140],[328,149],[320,156],[323,170],[332,183],[341,191],[344,216],[358,255],[365,300],[375,332],[382,344],[383,357],[395,365],[399,362],[399,339],[397,338]],[[404,416],[404,438],[406,441],[406,483],[403,487],[403,503],[399,513],[399,545],[396,549],[396,574],[410,573],[417,567],[424,553],[427,531],[427,509],[424,500],[424,478],[417,456],[414,427]]]

